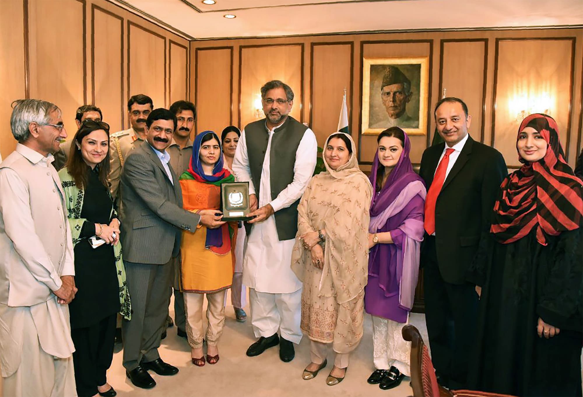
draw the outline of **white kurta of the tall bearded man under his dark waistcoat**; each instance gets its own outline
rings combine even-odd
[[[280,125],[279,125],[280,126]],[[261,187],[259,189],[259,208],[271,204],[274,211],[287,208],[304,193],[305,187],[312,178],[316,165],[318,144],[314,132],[307,129],[296,151],[293,181],[286,189],[271,200],[270,160],[271,141],[273,131],[269,130],[269,141],[265,151],[265,160],[261,171]],[[253,155],[253,154],[251,154]],[[245,131],[241,132],[237,151],[233,159],[233,171],[237,180],[249,181],[250,194],[255,194],[255,187],[251,180],[249,158]],[[291,271],[291,250],[295,239],[278,239],[278,231],[273,215],[264,222],[254,224],[247,240],[247,251],[243,261],[243,283],[258,292],[291,293],[302,286],[301,281]]]

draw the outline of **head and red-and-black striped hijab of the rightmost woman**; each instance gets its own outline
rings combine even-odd
[[[542,152],[544,146],[546,152]],[[564,159],[557,123],[550,116],[533,114],[522,120],[517,150],[524,165],[500,186],[491,232],[504,244],[536,228],[536,240],[546,245],[545,235],[556,236],[579,227],[582,182]],[[544,154],[542,158],[540,154]]]

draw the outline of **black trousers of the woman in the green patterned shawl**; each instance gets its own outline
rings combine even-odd
[[[107,382],[107,370],[113,360],[117,313],[87,328],[71,329],[75,344],[73,367],[79,397],[97,394],[97,386]]]

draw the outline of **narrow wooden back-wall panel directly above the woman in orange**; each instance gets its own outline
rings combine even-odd
[[[233,47],[195,51],[195,132],[233,124]]]

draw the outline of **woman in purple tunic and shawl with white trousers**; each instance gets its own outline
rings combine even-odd
[[[370,181],[375,193],[368,229],[370,255],[364,310],[373,316],[375,371],[368,383],[397,387],[410,376],[411,345],[401,336],[413,307],[423,240],[426,188],[409,159],[411,143],[399,127],[378,136]]]

